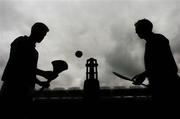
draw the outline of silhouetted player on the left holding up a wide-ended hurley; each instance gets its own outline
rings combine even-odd
[[[30,36],[20,36],[11,43],[10,57],[5,67],[1,88],[2,103],[6,117],[25,118],[32,108],[35,83],[46,86],[36,75],[49,80],[56,78],[52,71],[37,68],[38,52],[36,43],[40,43],[49,31],[43,23],[35,23]],[[2,107],[2,106],[1,106]],[[30,114],[30,113],[29,113]]]

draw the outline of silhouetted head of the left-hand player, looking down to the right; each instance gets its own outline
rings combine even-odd
[[[46,36],[47,32],[49,31],[48,27],[41,23],[37,22],[35,23],[31,28],[31,37],[35,42],[40,43],[43,38]]]

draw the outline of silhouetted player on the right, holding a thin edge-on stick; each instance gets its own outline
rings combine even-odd
[[[135,23],[137,35],[146,41],[145,71],[134,77],[134,84],[141,84],[147,77],[153,102],[171,104],[177,99],[179,86],[178,68],[170,49],[169,41],[161,34],[152,32],[153,24],[142,19]]]

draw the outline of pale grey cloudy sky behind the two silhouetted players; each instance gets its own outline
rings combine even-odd
[[[37,44],[38,67],[52,70],[51,61],[56,59],[69,64],[51,88],[82,88],[86,60],[91,57],[98,61],[101,86],[131,86],[112,71],[132,77],[144,70],[144,41],[134,31],[134,23],[142,18],[151,20],[154,32],[170,40],[180,69],[179,5],[179,0],[0,0],[0,78],[10,43],[29,35],[37,21],[50,29]],[[77,50],[83,51],[81,58],[74,55]]]

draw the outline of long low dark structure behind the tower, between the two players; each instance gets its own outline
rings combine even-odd
[[[44,90],[35,95],[35,101],[56,101],[56,102],[82,102],[84,99],[83,90],[80,88]],[[121,102],[126,100],[151,101],[151,93],[147,88],[140,87],[101,87],[99,93],[101,102]]]

